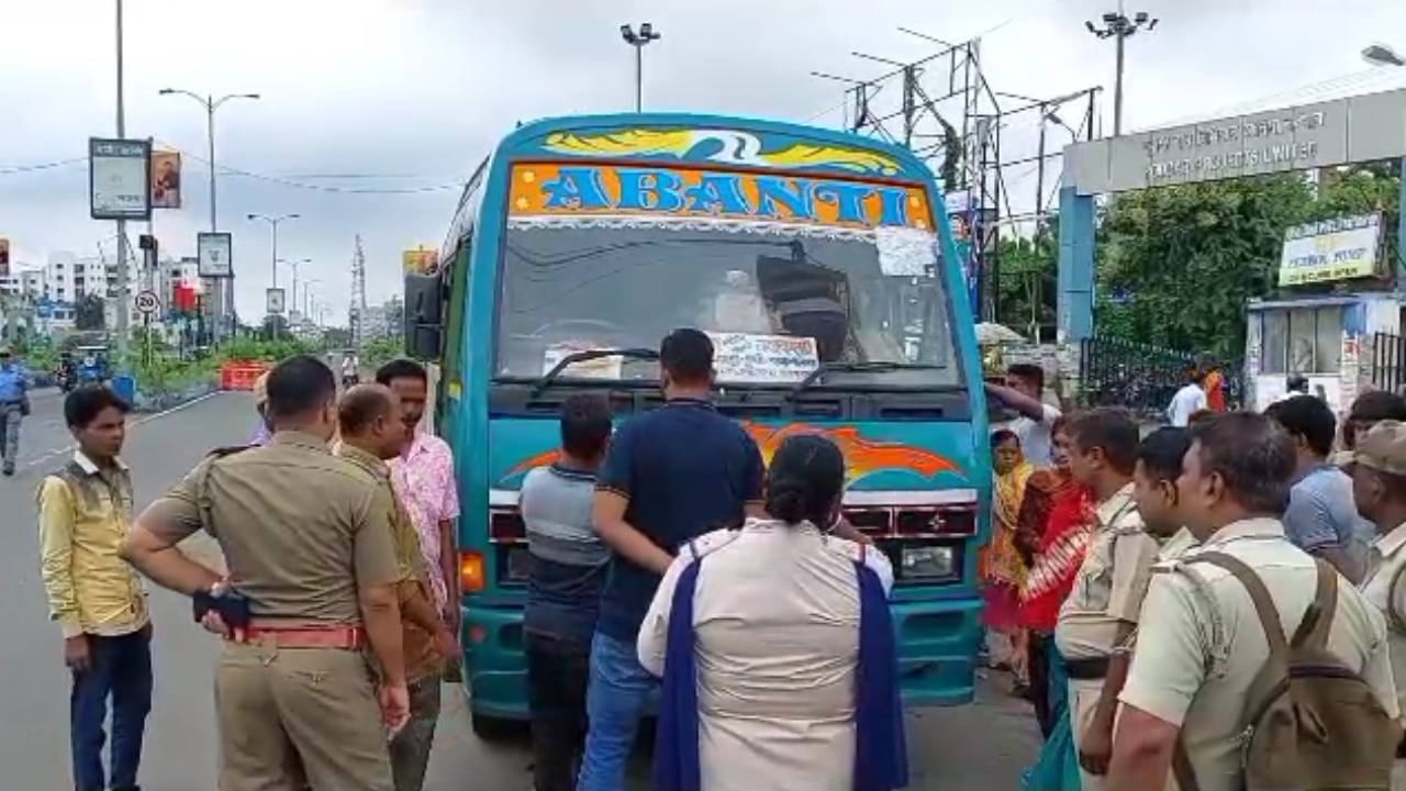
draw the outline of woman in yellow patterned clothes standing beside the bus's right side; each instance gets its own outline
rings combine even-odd
[[[1035,467],[1021,453],[1021,441],[1011,429],[991,434],[995,484],[991,497],[991,540],[979,556],[980,580],[986,598],[981,622],[987,628],[987,652],[991,667],[1004,667],[1014,676],[1014,691],[1029,691],[1028,643],[1019,624],[1021,588],[1028,571],[1015,546],[1015,531],[1025,501],[1026,483]]]

